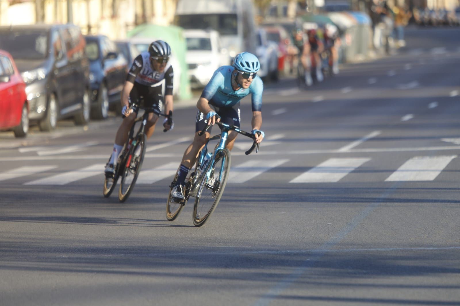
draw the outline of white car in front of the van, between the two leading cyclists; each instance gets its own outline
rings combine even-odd
[[[185,62],[192,88],[206,86],[214,71],[228,65],[228,55],[220,45],[219,32],[214,30],[184,30],[187,42]]]

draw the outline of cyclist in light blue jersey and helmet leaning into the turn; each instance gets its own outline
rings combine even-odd
[[[260,127],[262,125],[264,83],[257,76],[259,68],[260,63],[255,55],[242,52],[234,58],[233,66],[222,66],[214,72],[196,103],[198,113],[196,114],[195,138],[184,152],[175,180],[176,185],[171,190],[175,201],[184,199],[185,178],[209,138],[211,129],[203,136],[198,136],[198,132],[206,125],[214,125],[216,120],[240,127],[240,100],[249,94],[252,95],[252,134],[257,143],[263,140],[265,134]],[[217,118],[216,115],[218,115]],[[260,135],[257,132],[260,132]],[[229,150],[233,148],[237,135],[235,131],[229,132],[226,148]]]

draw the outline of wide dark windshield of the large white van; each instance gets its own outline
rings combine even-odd
[[[179,27],[201,30],[212,28],[218,31],[220,35],[238,34],[236,21],[236,14],[191,14],[174,17],[174,23]]]

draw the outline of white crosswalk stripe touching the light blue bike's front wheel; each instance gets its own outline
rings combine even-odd
[[[288,161],[289,159],[249,160],[235,167],[231,167],[228,182],[244,183]]]

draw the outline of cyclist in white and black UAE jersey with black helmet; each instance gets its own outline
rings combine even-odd
[[[129,130],[136,119],[137,114],[129,108],[131,102],[138,101],[143,97],[145,107],[154,107],[158,112],[163,110],[164,113],[173,111],[173,66],[169,63],[171,56],[171,47],[162,40],[156,40],[149,46],[148,51],[144,51],[134,59],[131,69],[127,75],[123,91],[121,92],[121,113],[124,117],[115,136],[115,144],[112,157],[105,167],[105,175],[110,177],[114,175],[115,165],[118,155],[127,141]],[[165,96],[163,99],[162,89],[165,86]],[[155,113],[149,114],[149,121],[146,126],[147,138],[152,136],[155,131],[155,123],[158,116]],[[172,130],[174,124],[169,125],[167,119],[164,120],[163,126],[167,130]]]

